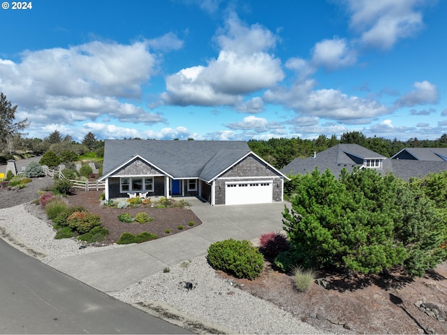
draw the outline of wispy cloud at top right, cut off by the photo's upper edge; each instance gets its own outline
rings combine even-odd
[[[389,49],[400,38],[414,36],[423,28],[418,6],[427,0],[348,0],[350,26],[363,44]]]

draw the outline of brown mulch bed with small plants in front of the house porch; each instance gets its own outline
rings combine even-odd
[[[126,209],[104,207],[101,204],[101,200],[99,200],[101,193],[103,191],[76,191],[75,194],[68,195],[66,198],[68,205],[82,205],[91,213],[101,216],[103,226],[110,231],[108,237],[101,241],[101,244],[115,243],[123,232],[131,232],[132,234],[151,232],[152,234],[156,234],[158,238],[161,238],[193,229],[202,224],[202,221],[200,221],[196,214],[187,207],[155,208],[151,207],[150,204],[140,204],[137,208],[129,207]],[[135,217],[140,212],[147,213],[150,217],[155,218],[155,220],[149,223],[124,223],[118,220],[119,214],[129,213]],[[193,226],[189,226],[189,222],[191,221],[194,223]],[[183,230],[178,229],[179,225],[183,226]],[[166,232],[167,229],[170,230],[169,233]]]

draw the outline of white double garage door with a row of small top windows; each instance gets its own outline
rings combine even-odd
[[[264,204],[272,202],[273,181],[227,182],[225,204]]]

